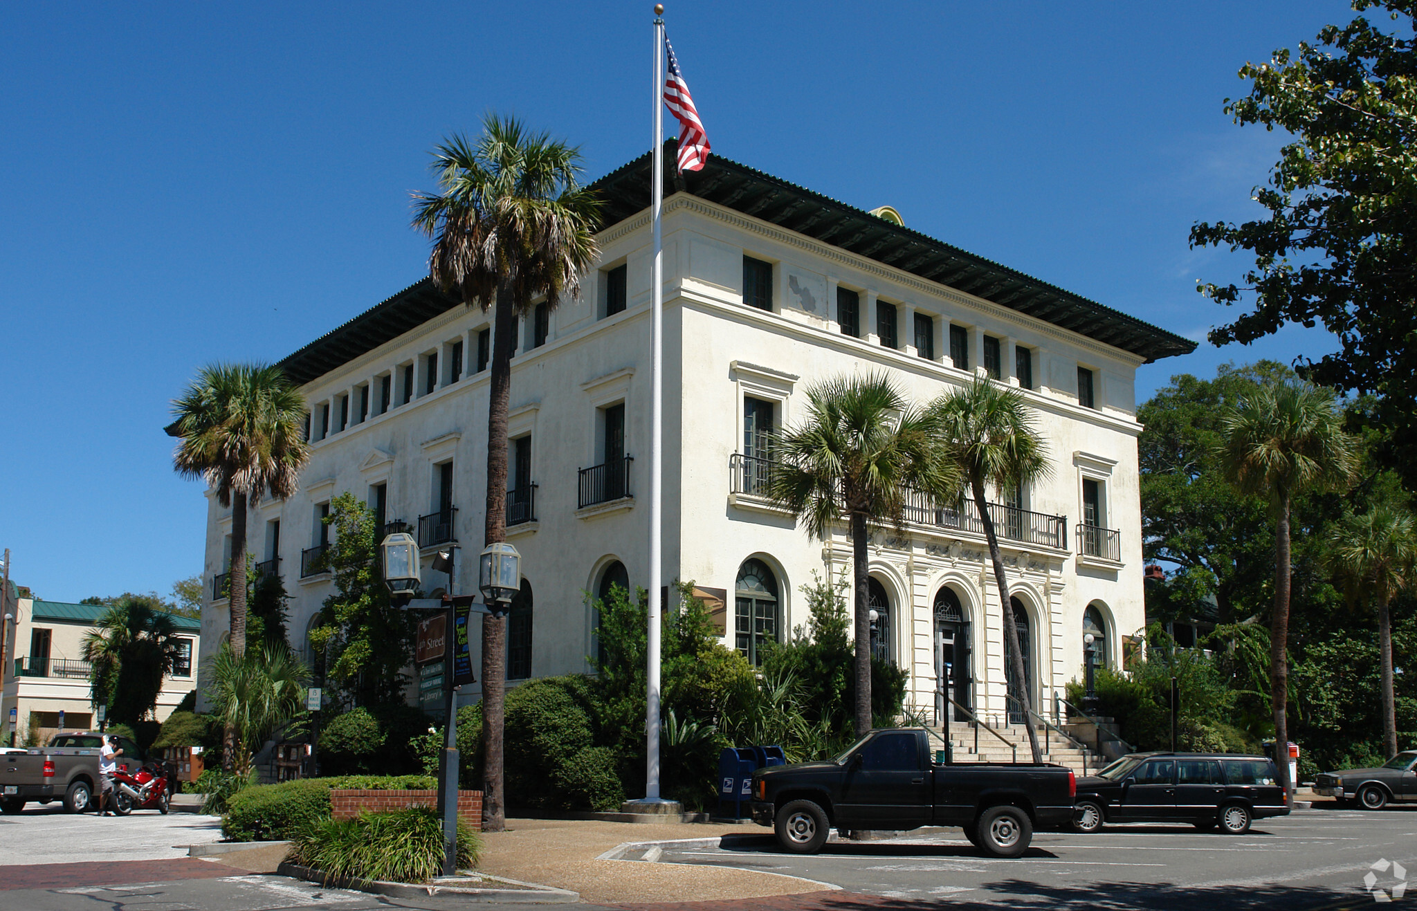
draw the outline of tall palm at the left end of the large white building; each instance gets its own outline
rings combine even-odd
[[[231,506],[231,650],[247,650],[247,507],[271,496],[285,499],[299,489],[310,460],[305,441],[305,400],[279,367],[214,364],[173,402],[177,451],[173,466],[184,477],[201,477]],[[231,771],[235,730],[228,724],[222,768]]]

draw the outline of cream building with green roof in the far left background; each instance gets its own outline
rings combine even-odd
[[[68,604],[20,598],[6,636],[4,689],[0,713],[6,721],[4,742],[23,744],[28,735],[45,742],[60,728],[94,728],[89,663],[84,660],[84,638],[98,628],[105,605]],[[179,632],[179,656],[173,672],[163,677],[153,713],[166,721],[181,700],[197,689],[196,656],[201,653],[201,623],[173,615]]]

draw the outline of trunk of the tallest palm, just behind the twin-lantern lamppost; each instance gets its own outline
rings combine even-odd
[[[516,350],[517,310],[512,296],[497,293],[492,333],[492,375],[487,402],[487,507],[483,545],[507,540],[507,405],[512,400],[512,351]],[[507,619],[482,616],[482,830],[507,826],[502,730],[507,689]]]

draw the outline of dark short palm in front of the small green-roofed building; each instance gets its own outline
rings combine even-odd
[[[163,677],[177,659],[177,625],[170,613],[123,598],[84,636],[91,700],[106,706],[113,724],[146,718],[157,706]]]

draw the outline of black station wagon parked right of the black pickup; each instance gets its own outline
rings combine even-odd
[[[1289,812],[1278,769],[1265,757],[1216,752],[1138,752],[1077,779],[1073,829],[1107,822],[1185,822],[1229,834],[1253,819]]]

